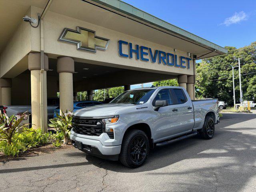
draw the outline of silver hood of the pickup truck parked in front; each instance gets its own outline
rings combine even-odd
[[[102,116],[112,116],[115,115],[116,112],[120,109],[125,109],[129,107],[133,107],[134,104],[104,104],[104,105],[96,105],[92,107],[83,108],[74,112],[74,116],[79,117],[102,117]]]

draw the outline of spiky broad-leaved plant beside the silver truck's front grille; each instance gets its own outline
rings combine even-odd
[[[50,119],[50,124],[48,126],[53,127],[56,131],[60,131],[64,134],[64,141],[63,144],[68,144],[69,136],[70,136],[70,129],[72,127],[72,112],[66,111],[64,116],[60,116],[56,114],[56,118]]]

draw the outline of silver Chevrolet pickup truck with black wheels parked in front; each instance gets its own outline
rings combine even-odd
[[[218,100],[191,100],[182,87],[139,88],[109,104],[74,112],[73,146],[100,158],[141,166],[149,150],[200,134],[214,136]]]

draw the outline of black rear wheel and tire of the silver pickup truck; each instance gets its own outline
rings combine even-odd
[[[199,130],[200,136],[203,139],[211,139],[214,136],[215,125],[211,116],[206,116],[204,120],[204,126]]]

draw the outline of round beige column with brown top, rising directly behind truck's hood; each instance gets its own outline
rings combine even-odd
[[[73,101],[73,73],[74,60],[71,57],[58,57],[57,72],[59,73],[60,85],[60,115],[64,115],[66,110],[74,110]]]

